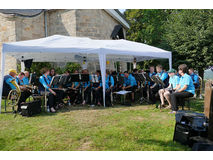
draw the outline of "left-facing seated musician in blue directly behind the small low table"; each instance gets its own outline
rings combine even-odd
[[[132,91],[132,97],[131,100],[134,102],[134,92],[135,89],[137,88],[137,83],[135,80],[135,77],[132,76],[132,74],[129,74],[127,71],[124,72],[124,84],[123,84],[123,90],[126,91]]]

